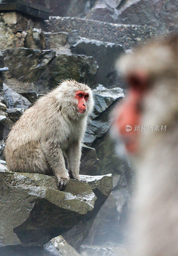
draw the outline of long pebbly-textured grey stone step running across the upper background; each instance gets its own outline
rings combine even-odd
[[[122,44],[124,49],[130,49],[156,34],[156,30],[147,25],[114,24],[76,17],[50,16],[45,23],[48,32],[71,32],[76,29],[82,37]]]

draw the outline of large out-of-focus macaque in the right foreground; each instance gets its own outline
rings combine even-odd
[[[136,169],[131,252],[177,256],[178,33],[140,46],[117,67],[130,86],[113,131]]]

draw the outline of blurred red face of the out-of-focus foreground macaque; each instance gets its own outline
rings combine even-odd
[[[117,109],[114,126],[119,131],[130,154],[138,150],[138,131],[135,126],[141,123],[141,103],[147,90],[147,76],[144,72],[128,77],[130,89],[122,105]]]

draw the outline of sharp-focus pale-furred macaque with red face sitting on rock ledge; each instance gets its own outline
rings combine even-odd
[[[69,180],[66,156],[69,177],[80,180],[81,140],[92,109],[88,85],[64,80],[27,109],[11,129],[5,146],[8,169],[55,175],[63,190]]]

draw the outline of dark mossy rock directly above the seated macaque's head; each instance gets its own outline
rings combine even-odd
[[[49,65],[50,82],[56,86],[62,79],[72,78],[94,86],[98,65],[93,57],[85,55],[57,55]]]

